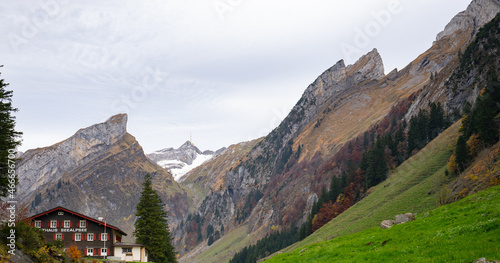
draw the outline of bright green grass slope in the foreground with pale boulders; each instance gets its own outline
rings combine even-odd
[[[475,262],[500,259],[500,186],[416,221],[370,228],[280,254],[266,262]]]

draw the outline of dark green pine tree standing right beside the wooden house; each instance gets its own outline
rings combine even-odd
[[[153,262],[177,262],[167,212],[163,210],[163,202],[151,186],[151,175],[144,178],[141,198],[137,204],[138,219],[134,223],[136,242],[146,246],[149,258]]]

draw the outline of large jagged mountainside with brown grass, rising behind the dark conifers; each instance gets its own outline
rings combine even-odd
[[[240,242],[251,244],[273,226],[286,228],[303,222],[307,218],[304,211],[310,211],[331,177],[342,174],[344,168],[333,157],[350,140],[370,128],[385,127],[381,121],[399,101],[415,98],[410,100],[406,122],[430,102],[447,102],[445,81],[459,64],[458,55],[498,11],[498,1],[473,1],[429,50],[400,71],[384,75],[375,49],[354,65],[346,67],[339,61],[321,74],[285,120],[250,150],[240,165],[216,175],[225,178],[225,183],[219,189],[209,189],[198,209],[206,221],[199,225],[201,232],[209,225],[217,230],[224,226],[233,240],[220,240],[231,243],[225,247],[225,257],[220,253],[207,257],[218,249],[217,243],[212,249],[202,242],[189,253],[189,261],[197,253],[201,253],[198,258],[212,262],[228,259],[229,251],[241,247]],[[218,211],[220,216],[214,218],[213,207],[223,203],[234,205]],[[227,233],[228,228],[240,234]],[[184,232],[189,234],[188,229]],[[243,238],[242,232],[254,239]]]

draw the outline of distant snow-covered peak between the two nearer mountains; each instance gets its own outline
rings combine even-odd
[[[185,142],[179,148],[165,148],[146,156],[169,171],[176,181],[179,181],[190,170],[220,154],[225,148],[216,152],[200,151],[191,141]]]

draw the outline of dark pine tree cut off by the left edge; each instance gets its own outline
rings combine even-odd
[[[1,67],[1,66],[0,66]],[[0,197],[5,197],[9,193],[9,170],[12,170],[13,156],[16,147],[21,144],[17,138],[21,132],[15,131],[15,117],[12,113],[17,109],[12,107],[12,91],[6,90],[8,83],[0,79]],[[11,169],[9,169],[11,168]],[[14,178],[17,183],[17,178]]]

